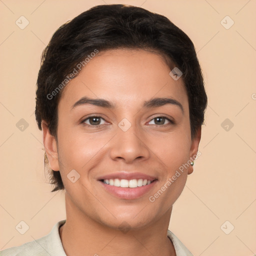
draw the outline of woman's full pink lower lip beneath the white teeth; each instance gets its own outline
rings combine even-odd
[[[106,189],[107,192],[110,194],[121,198],[121,199],[136,199],[147,193],[156,183],[157,180],[152,181],[148,185],[144,186],[137,186],[137,187],[120,187],[120,186],[113,186],[103,183],[99,181],[101,185]]]

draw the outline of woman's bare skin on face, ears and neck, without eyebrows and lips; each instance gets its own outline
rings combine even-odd
[[[43,121],[49,165],[60,170],[65,187],[66,223],[60,237],[67,256],[175,255],[166,232],[172,204],[193,167],[189,164],[154,202],[148,197],[196,155],[201,129],[191,139],[182,77],[174,80],[169,71],[163,57],[150,51],[99,52],[64,88],[58,104],[57,141]],[[82,96],[104,98],[116,106],[84,104],[70,110]],[[143,101],[166,96],[179,101],[184,112],[174,104],[142,108]],[[98,114],[103,117],[98,120],[100,127],[87,127],[93,125],[89,119],[82,123],[88,115]],[[154,118],[162,115],[175,124],[167,119],[157,124]],[[123,118],[131,123],[127,131],[118,127]],[[80,174],[74,183],[67,178],[72,169]],[[158,180],[143,196],[120,199],[97,181],[100,175],[119,170],[147,173]],[[121,223],[126,223],[126,232],[119,228]]]

